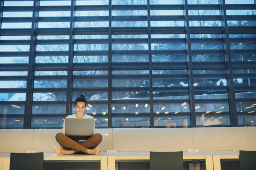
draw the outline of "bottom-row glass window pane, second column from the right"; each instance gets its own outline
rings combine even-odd
[[[230,127],[225,70],[193,70],[197,127]]]

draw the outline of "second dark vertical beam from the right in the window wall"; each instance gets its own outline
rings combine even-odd
[[[196,127],[195,120],[195,96],[194,96],[194,83],[193,83],[193,70],[192,70],[192,54],[191,54],[191,41],[189,29],[189,10],[188,1],[183,0],[184,22],[186,29],[186,56],[188,66],[188,82],[189,82],[189,112],[190,112],[190,126]]]

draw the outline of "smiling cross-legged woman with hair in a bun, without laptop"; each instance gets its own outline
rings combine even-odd
[[[66,118],[93,118],[93,116],[84,114],[86,107],[86,99],[84,95],[76,98],[76,114],[68,115]],[[62,133],[56,135],[56,141],[63,149],[56,149],[55,153],[58,155],[70,155],[76,152],[84,152],[90,155],[99,155],[99,148],[96,148],[102,141],[100,133],[94,134],[86,141],[73,141],[65,135],[65,121],[62,128]]]

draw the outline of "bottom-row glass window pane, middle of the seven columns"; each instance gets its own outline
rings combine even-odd
[[[112,71],[112,127],[149,127],[148,70]]]

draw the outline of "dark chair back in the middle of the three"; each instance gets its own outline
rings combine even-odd
[[[150,170],[183,170],[183,152],[150,152]]]

